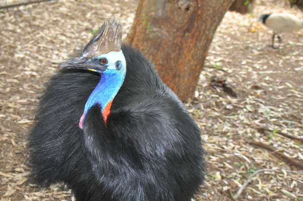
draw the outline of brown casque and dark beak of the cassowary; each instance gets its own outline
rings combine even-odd
[[[110,51],[121,51],[121,44],[122,26],[116,18],[108,18],[85,46],[81,56],[60,64],[60,68],[105,70],[106,68],[100,66],[99,61],[94,58]]]

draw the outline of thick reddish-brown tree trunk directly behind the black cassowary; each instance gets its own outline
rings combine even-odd
[[[233,0],[141,0],[128,42],[182,101],[192,97],[216,28]]]

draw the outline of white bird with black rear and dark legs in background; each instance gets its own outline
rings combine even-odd
[[[272,36],[271,45],[273,48],[275,48],[274,39],[276,35],[281,42],[279,33],[299,31],[303,28],[303,20],[299,20],[294,15],[287,13],[263,14],[259,16],[259,21],[263,22],[266,27],[273,31],[274,34]]]

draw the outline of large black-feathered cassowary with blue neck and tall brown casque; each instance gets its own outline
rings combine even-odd
[[[29,136],[30,177],[77,201],[190,200],[203,183],[200,130],[109,18],[60,65]]]

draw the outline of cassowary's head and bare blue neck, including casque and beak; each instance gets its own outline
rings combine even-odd
[[[106,123],[112,101],[126,74],[126,61],[121,44],[122,26],[116,18],[108,18],[79,57],[60,64],[61,68],[85,69],[101,74],[100,81],[88,98],[79,121],[81,129],[87,112],[94,105],[99,105]]]

